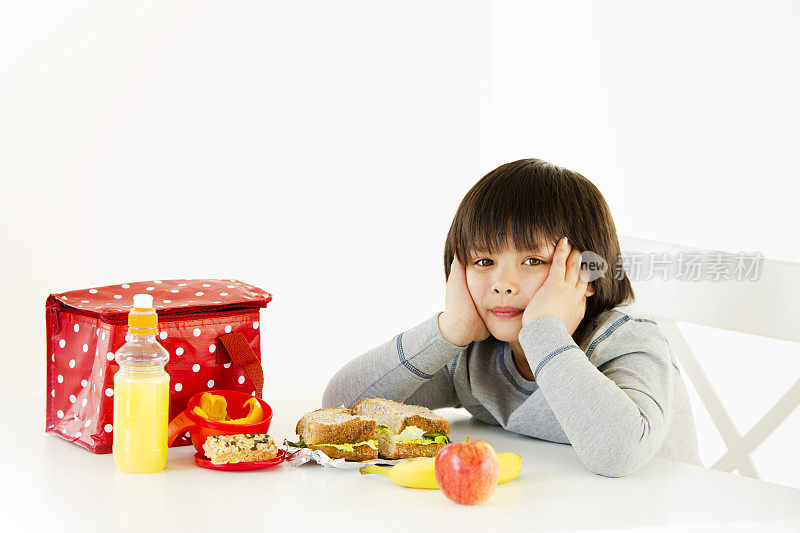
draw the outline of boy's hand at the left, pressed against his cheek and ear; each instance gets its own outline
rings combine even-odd
[[[457,257],[450,265],[444,297],[444,312],[439,314],[439,331],[447,342],[466,346],[489,337],[486,323],[478,314],[467,288],[467,272]]]

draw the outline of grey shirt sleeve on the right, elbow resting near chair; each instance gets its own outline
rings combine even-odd
[[[528,323],[519,339],[534,380],[590,471],[626,476],[652,459],[669,427],[675,384],[669,345],[655,322],[624,315],[585,353],[553,316]],[[525,403],[515,418],[524,409]]]

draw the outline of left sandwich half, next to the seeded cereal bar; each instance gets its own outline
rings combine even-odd
[[[371,461],[378,458],[375,421],[331,407],[307,413],[295,431],[300,446],[320,450],[331,459]]]

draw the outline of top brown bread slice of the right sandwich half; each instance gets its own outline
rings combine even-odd
[[[395,434],[400,433],[408,426],[416,426],[426,435],[430,433],[450,434],[450,424],[447,420],[421,405],[406,405],[383,398],[367,398],[353,406],[353,414],[372,418]]]

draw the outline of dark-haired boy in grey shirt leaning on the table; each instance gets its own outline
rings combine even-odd
[[[583,250],[616,271],[593,279]],[[589,180],[538,159],[498,167],[453,219],[444,311],[348,363],[323,406],[373,397],[463,406],[572,444],[604,476],[629,475],[654,455],[702,466],[674,356],[658,325],[625,307],[634,295],[619,257]]]

